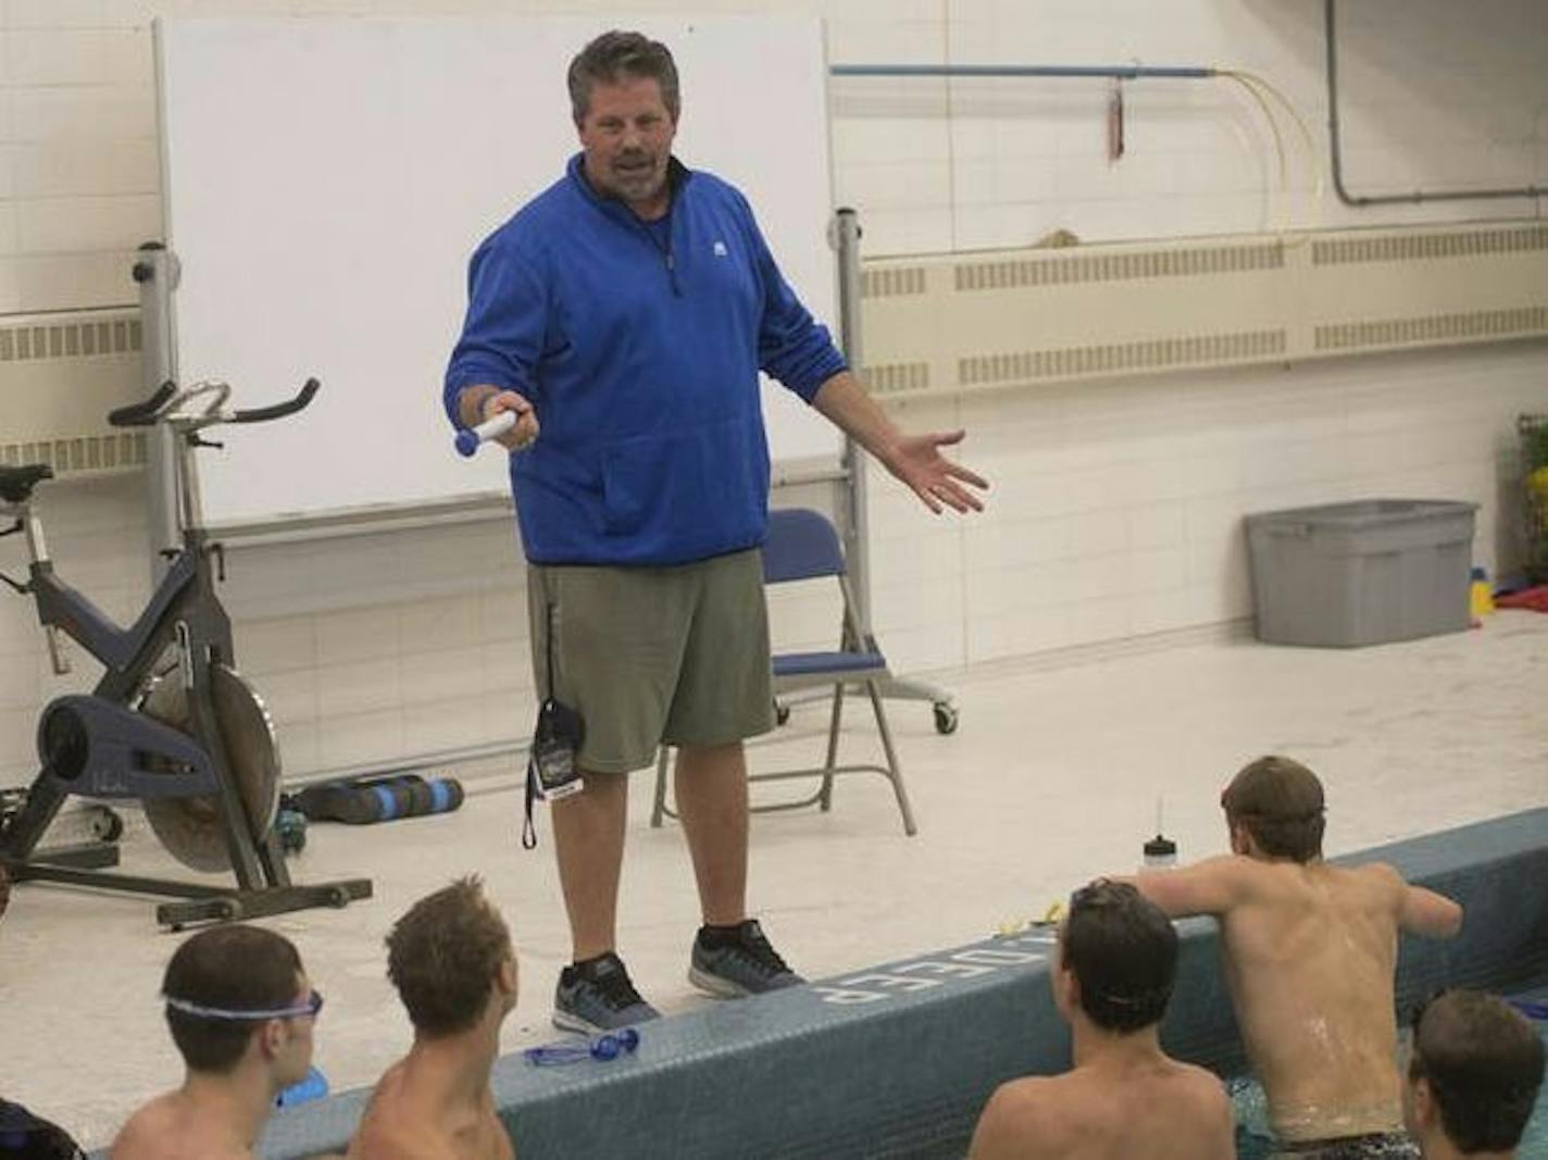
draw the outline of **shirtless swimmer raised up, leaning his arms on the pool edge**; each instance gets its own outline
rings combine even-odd
[[[1402,1134],[1398,932],[1450,939],[1461,908],[1390,866],[1322,861],[1322,782],[1260,757],[1220,798],[1231,853],[1135,884],[1220,921],[1226,982],[1280,1146],[1307,1160],[1416,1157]]]

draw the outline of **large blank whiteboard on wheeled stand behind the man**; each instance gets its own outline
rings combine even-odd
[[[166,240],[183,383],[238,406],[322,379],[299,417],[221,427],[212,525],[505,491],[452,451],[441,376],[477,243],[577,150],[565,71],[608,28],[672,48],[673,152],[741,187],[785,277],[836,330],[827,60],[808,17],[169,19],[156,22]],[[771,455],[839,437],[763,384]]]

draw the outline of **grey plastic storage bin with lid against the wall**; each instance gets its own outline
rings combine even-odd
[[[1259,640],[1350,647],[1466,629],[1477,511],[1376,499],[1248,516]]]

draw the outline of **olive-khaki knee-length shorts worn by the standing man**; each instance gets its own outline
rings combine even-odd
[[[533,675],[580,712],[577,765],[628,773],[667,745],[726,745],[774,728],[757,548],[670,568],[528,565]]]

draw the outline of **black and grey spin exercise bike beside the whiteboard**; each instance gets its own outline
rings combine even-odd
[[[237,672],[231,621],[215,595],[224,554],[203,527],[197,448],[218,448],[200,432],[221,423],[265,423],[311,403],[317,381],[276,406],[228,407],[231,387],[164,383],[149,400],[108,415],[116,427],[164,424],[175,443],[181,544],[166,551],[167,568],[135,623],[121,629],[56,573],[33,510],[33,491],[53,477],[48,465],[0,466],[0,519],[23,533],[29,556],[25,582],[0,575],[37,606],[56,674],[70,672],[60,633],[102,663],[90,694],[56,697],[37,723],[42,764],[25,799],[0,819],[0,877],[91,886],[172,898],[156,921],[254,918],[314,906],[347,906],[372,895],[367,878],[293,884],[276,829],[280,759],[263,702]],[[235,886],[142,878],[108,872],[111,843],[39,847],[43,832],[71,794],[138,801],[161,844],[184,866],[226,872]]]

